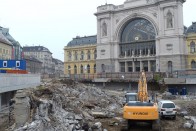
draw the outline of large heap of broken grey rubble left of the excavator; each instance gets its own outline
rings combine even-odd
[[[95,120],[120,114],[123,97],[65,79],[19,91],[15,100],[15,131],[107,131]]]

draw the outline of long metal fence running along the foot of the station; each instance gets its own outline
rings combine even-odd
[[[67,74],[61,77],[73,80],[93,80],[108,78],[111,80],[138,80],[141,72],[104,72],[97,74]],[[170,72],[146,72],[147,80],[159,80],[161,78],[196,78],[196,70],[177,70]]]

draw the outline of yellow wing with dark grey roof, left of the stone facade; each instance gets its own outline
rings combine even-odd
[[[65,74],[95,74],[97,37],[76,37],[64,48]]]

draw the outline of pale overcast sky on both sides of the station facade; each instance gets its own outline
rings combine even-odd
[[[21,46],[47,47],[63,61],[63,48],[76,36],[96,35],[94,13],[106,0],[0,0],[0,26]],[[107,0],[120,5],[125,0]],[[196,0],[184,4],[184,25],[196,21]]]

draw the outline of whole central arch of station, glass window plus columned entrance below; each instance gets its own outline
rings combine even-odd
[[[143,69],[154,71],[152,68],[156,69],[155,38],[155,28],[150,21],[135,18],[127,22],[122,28],[119,42],[120,72],[138,72]]]

